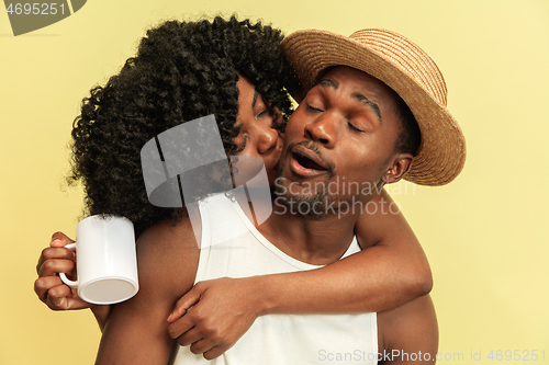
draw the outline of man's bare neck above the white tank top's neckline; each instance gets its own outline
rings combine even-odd
[[[285,254],[310,264],[327,265],[341,258],[352,242],[358,214],[312,218],[274,205],[258,230]]]

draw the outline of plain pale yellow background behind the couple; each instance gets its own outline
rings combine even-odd
[[[63,180],[71,122],[145,28],[219,12],[262,18],[287,34],[385,27],[435,59],[467,137],[466,168],[448,186],[393,194],[433,267],[439,351],[463,354],[439,363],[493,364],[491,350],[545,350],[549,364],[546,0],[90,0],[18,37],[2,12],[0,364],[92,363],[100,332],[91,313],[53,312],[33,292],[41,250],[55,230],[74,237],[80,215],[80,189]],[[472,362],[479,351],[482,362]]]

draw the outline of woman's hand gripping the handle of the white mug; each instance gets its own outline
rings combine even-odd
[[[36,264],[38,278],[34,282],[34,292],[40,300],[45,303],[49,309],[85,309],[92,305],[83,301],[78,296],[77,289],[65,285],[58,273],[66,273],[68,276],[76,276],[75,253],[65,246],[74,240],[65,233],[55,232],[52,236],[49,247],[42,251]]]

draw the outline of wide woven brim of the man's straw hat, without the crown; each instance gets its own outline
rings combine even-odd
[[[321,72],[333,66],[365,71],[383,81],[406,102],[419,125],[422,145],[405,180],[419,185],[445,185],[461,172],[466,140],[458,123],[445,105],[389,56],[351,38],[318,30],[294,32],[280,47],[301,83],[299,90],[289,90],[298,102],[315,85]]]

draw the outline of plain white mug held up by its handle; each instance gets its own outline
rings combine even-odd
[[[134,225],[124,217],[96,215],[76,227],[77,281],[59,273],[61,281],[78,288],[83,300],[109,305],[130,299],[139,289]]]

